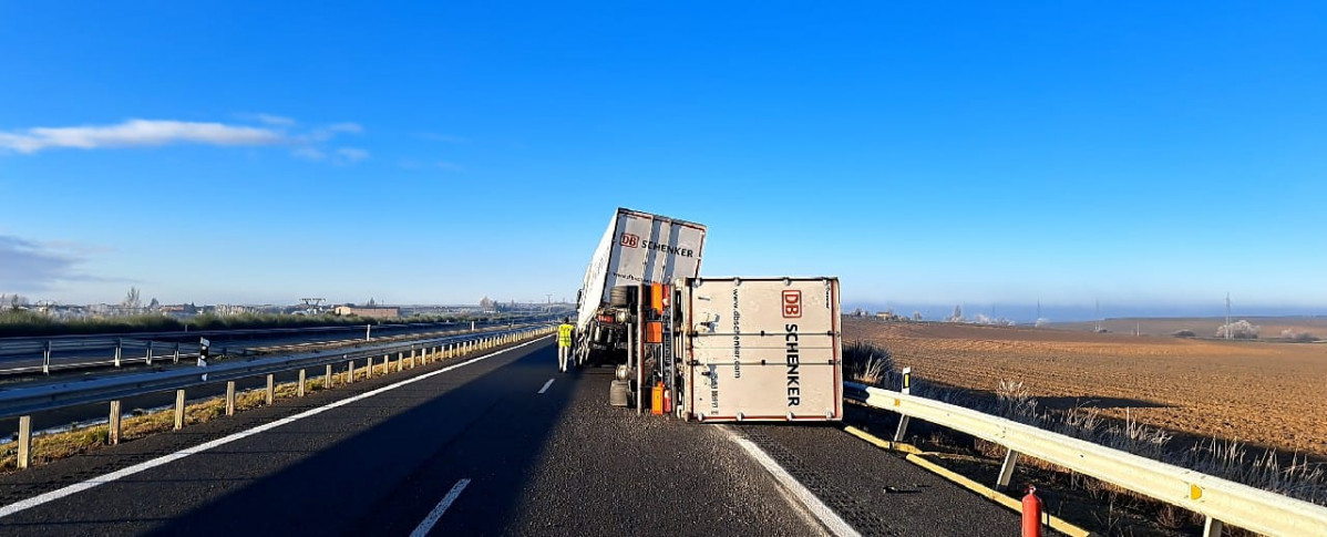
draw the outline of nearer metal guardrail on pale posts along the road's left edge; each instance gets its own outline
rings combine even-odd
[[[334,363],[349,363],[350,374],[354,374],[354,363],[364,359],[373,371],[373,359],[382,357],[386,365],[395,354],[397,370],[399,371],[406,353],[411,367],[415,363],[417,351],[425,361],[462,355],[474,350],[491,349],[498,345],[512,343],[527,338],[541,337],[551,333],[549,325],[515,326],[496,331],[467,333],[458,335],[434,337],[411,342],[390,342],[358,347],[354,351],[311,351],[287,357],[256,358],[244,362],[220,363],[208,367],[180,367],[165,371],[129,374],[107,377],[93,381],[74,381],[44,386],[25,386],[0,390],[0,419],[19,416],[19,468],[27,468],[31,461],[32,428],[31,415],[57,408],[78,404],[110,402],[111,432],[110,442],[118,442],[119,399],[163,392],[174,390],[175,399],[175,428],[183,427],[184,390],[190,387],[227,383],[227,414],[234,414],[235,381],[267,377],[267,396],[272,400],[273,375],[277,373],[300,371],[300,395],[304,394],[304,371],[311,367],[326,366],[326,375],[332,378]],[[352,377],[353,379],[353,377]]]

